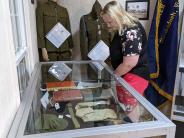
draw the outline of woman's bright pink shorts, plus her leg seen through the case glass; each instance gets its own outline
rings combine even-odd
[[[148,86],[148,81],[135,75],[128,73],[123,77],[137,92],[141,95]],[[116,86],[118,99],[125,105],[125,112],[132,122],[139,122],[140,118],[140,104],[123,86]]]

